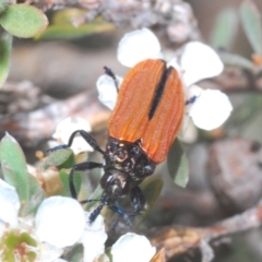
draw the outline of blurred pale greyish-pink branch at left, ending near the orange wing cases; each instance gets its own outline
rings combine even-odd
[[[32,88],[33,86],[31,91],[22,94],[32,94]],[[10,91],[10,94],[13,96],[13,91]],[[8,108],[8,114],[0,115],[0,134],[3,135],[8,131],[27,147],[50,139],[57,124],[67,117],[82,117],[92,127],[105,127],[110,115],[110,111],[98,103],[95,90],[83,92],[62,102],[49,99],[51,104],[33,111],[24,111],[24,108],[20,106],[20,96],[13,98],[12,110]],[[40,103],[40,100],[39,97],[32,99],[32,95],[23,97],[23,104],[27,106],[32,103],[34,105],[36,102]],[[33,104],[32,107],[34,107]]]

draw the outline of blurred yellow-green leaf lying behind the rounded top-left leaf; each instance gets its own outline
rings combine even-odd
[[[50,25],[40,34],[35,36],[36,40],[50,39],[74,39],[86,35],[112,31],[115,26],[109,23],[83,24],[74,27],[70,24]]]

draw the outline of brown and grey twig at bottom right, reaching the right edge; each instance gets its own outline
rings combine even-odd
[[[246,212],[205,228],[168,226],[151,233],[152,245],[165,248],[168,259],[200,248],[202,255],[213,240],[258,228],[262,224],[262,200]],[[211,261],[211,260],[210,260]]]

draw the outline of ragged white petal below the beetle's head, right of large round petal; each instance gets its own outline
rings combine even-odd
[[[105,251],[107,234],[105,231],[104,217],[98,215],[94,223],[87,224],[90,214],[85,212],[86,226],[80,242],[84,246],[84,262],[93,262]]]

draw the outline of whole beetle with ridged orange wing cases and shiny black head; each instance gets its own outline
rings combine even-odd
[[[112,79],[112,72],[106,68]],[[123,79],[116,107],[108,121],[108,142],[103,151],[96,140],[84,130],[74,131],[69,143],[50,151],[67,148],[80,134],[97,152],[105,164],[84,162],[74,165],[69,175],[70,191],[78,199],[73,184],[75,170],[103,168],[100,204],[90,215],[93,223],[102,209],[130,217],[144,210],[145,198],[139,184],[151,176],[155,166],[165,160],[182,123],[183,88],[178,72],[160,59],[146,59],[134,66]],[[124,211],[119,199],[130,196],[132,212]],[[86,200],[86,203],[95,200]]]

